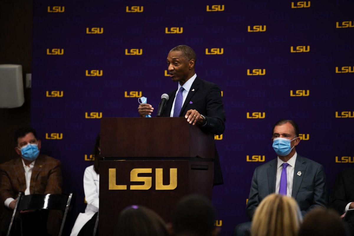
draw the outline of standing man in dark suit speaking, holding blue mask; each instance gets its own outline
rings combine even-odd
[[[200,79],[194,71],[196,55],[187,45],[171,49],[167,55],[167,66],[172,81],[178,88],[171,91],[162,116],[184,116],[191,125],[200,124],[201,129],[213,135],[220,135],[225,129],[225,111],[218,85]],[[150,115],[154,108],[150,104],[140,104],[141,117]],[[173,139],[173,136],[171,136]],[[215,148],[214,185],[223,184],[219,155]]]

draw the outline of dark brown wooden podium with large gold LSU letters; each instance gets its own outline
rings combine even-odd
[[[166,222],[183,196],[211,199],[214,137],[184,117],[102,118],[99,235],[118,235],[120,212],[153,209]]]

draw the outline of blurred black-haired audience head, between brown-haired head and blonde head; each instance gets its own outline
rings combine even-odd
[[[182,198],[172,214],[171,235],[215,236],[216,214],[211,202],[204,196],[190,195]]]

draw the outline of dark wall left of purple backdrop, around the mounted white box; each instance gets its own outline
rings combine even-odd
[[[32,1],[0,1],[0,64],[22,65],[23,85],[26,73],[32,73]],[[30,126],[31,90],[24,92],[20,108],[0,109],[0,163],[16,154],[13,133]]]

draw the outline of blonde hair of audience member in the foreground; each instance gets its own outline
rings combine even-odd
[[[296,201],[287,196],[270,194],[256,209],[252,236],[296,236],[302,215]]]

